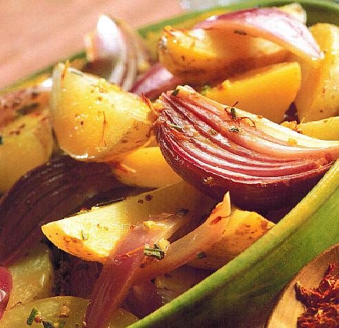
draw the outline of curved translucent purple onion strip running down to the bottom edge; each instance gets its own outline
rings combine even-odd
[[[86,312],[87,328],[106,327],[112,311],[121,306],[135,285],[136,273],[145,259],[145,245],[152,247],[158,240],[169,238],[183,223],[183,216],[161,214],[133,227],[119,240],[94,285]]]

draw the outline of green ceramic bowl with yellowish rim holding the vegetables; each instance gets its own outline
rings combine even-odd
[[[225,7],[225,10],[283,6],[291,2],[243,1]],[[316,22],[339,25],[338,3],[299,2],[307,10],[309,25]],[[141,28],[139,32],[152,45],[163,26],[192,25],[202,14],[204,12],[184,14]],[[85,53],[73,58],[84,59]],[[34,76],[50,70],[52,68],[47,68]],[[256,327],[256,322],[264,322],[269,305],[287,282],[312,258],[338,242],[338,185],[339,161],[278,225],[254,245],[185,294],[130,327]]]

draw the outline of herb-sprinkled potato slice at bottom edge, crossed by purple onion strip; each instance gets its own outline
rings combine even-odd
[[[31,303],[18,305],[6,311],[0,320],[0,328],[23,328],[32,309],[39,310],[44,321],[50,321],[54,327],[59,327],[61,321],[66,327],[83,327],[83,316],[89,300],[74,296],[59,296],[35,300]],[[116,309],[111,316],[107,328],[123,328],[136,322],[138,318],[125,309]],[[43,327],[42,323],[33,322],[31,327]]]

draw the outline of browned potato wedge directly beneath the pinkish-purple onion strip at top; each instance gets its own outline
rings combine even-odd
[[[167,27],[159,46],[159,59],[167,70],[185,83],[199,84],[280,63],[287,54],[265,39],[220,30]]]

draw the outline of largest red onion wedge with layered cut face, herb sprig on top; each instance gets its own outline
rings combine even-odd
[[[155,109],[156,139],[172,168],[216,198],[231,192],[244,209],[296,204],[339,156],[338,141],[282,129],[188,86],[163,94]]]

